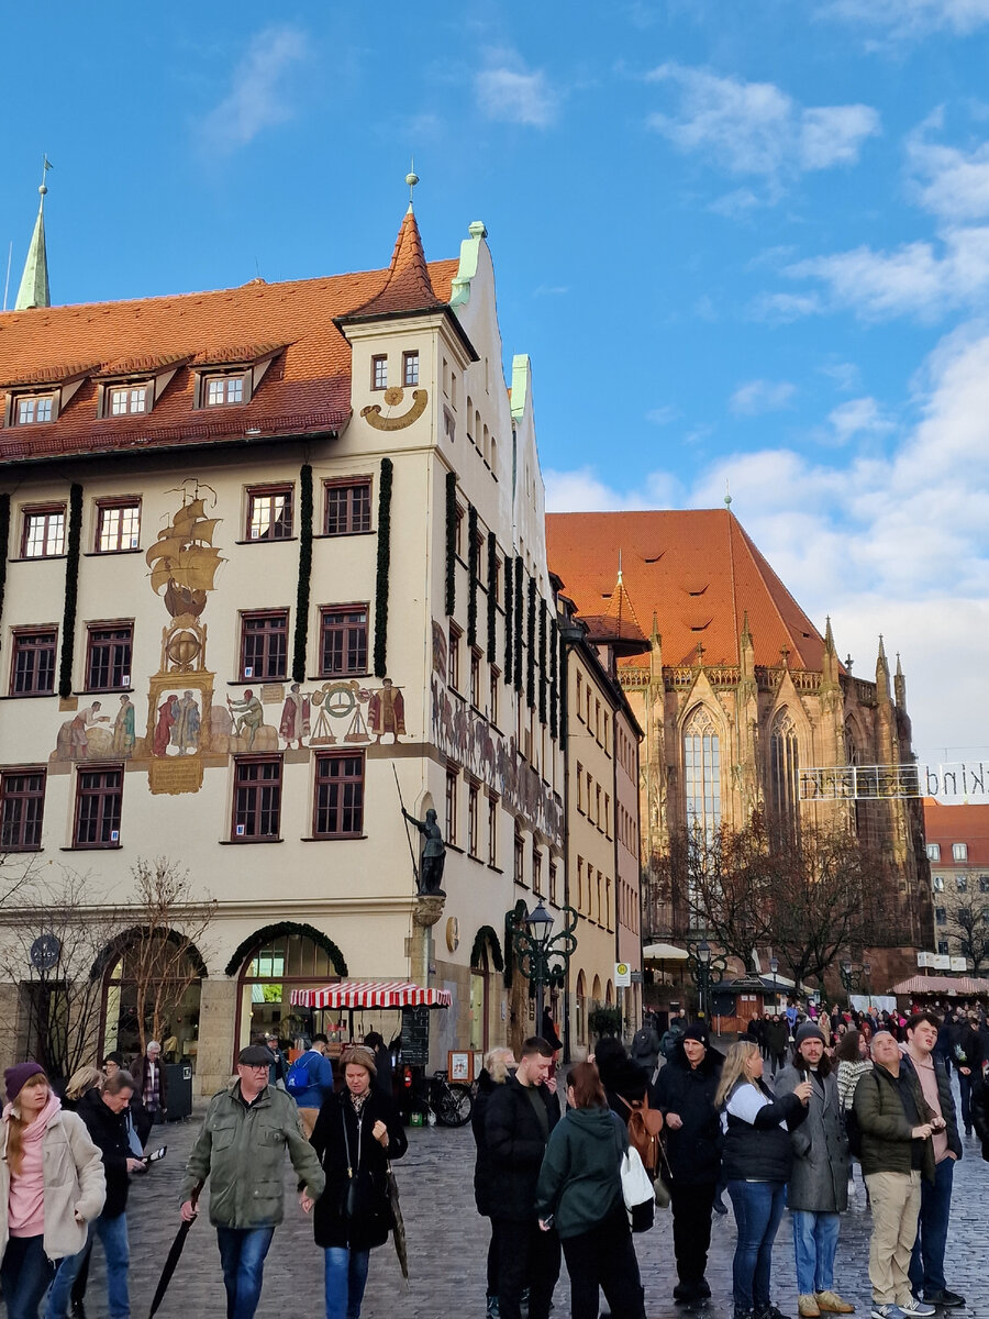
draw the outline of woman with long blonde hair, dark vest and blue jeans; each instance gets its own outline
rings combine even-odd
[[[786,1208],[794,1165],[790,1132],[807,1119],[811,1082],[777,1097],[762,1078],[762,1054],[732,1045],[715,1093],[721,1109],[721,1175],[738,1240],[732,1261],[734,1319],[785,1319],[769,1295],[773,1241]]]

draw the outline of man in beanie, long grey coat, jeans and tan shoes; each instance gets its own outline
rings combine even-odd
[[[833,1063],[824,1033],[807,1022],[796,1030],[794,1059],[775,1079],[777,1095],[811,1082],[807,1121],[790,1133],[794,1166],[786,1203],[794,1225],[800,1319],[852,1314],[854,1306],[835,1291],[835,1254],[840,1215],[848,1208],[848,1138]]]

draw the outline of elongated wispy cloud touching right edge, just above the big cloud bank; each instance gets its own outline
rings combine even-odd
[[[832,306],[851,307],[864,321],[897,315],[935,321],[953,307],[984,299],[989,288],[989,227],[945,230],[936,247],[906,243],[891,252],[860,247],[810,257],[785,273],[794,280],[820,281]]]

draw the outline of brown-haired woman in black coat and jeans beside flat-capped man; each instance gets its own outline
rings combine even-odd
[[[310,1137],[326,1173],[313,1231],[326,1256],[327,1319],[357,1319],[371,1250],[393,1227],[388,1161],[409,1142],[394,1101],[372,1088],[371,1050],[349,1049],[340,1063],[344,1089],[324,1101]]]

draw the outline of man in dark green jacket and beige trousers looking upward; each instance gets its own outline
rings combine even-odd
[[[910,1257],[920,1212],[920,1177],[934,1181],[931,1134],[944,1126],[927,1104],[899,1045],[887,1030],[872,1042],[873,1070],[854,1091],[862,1137],[862,1174],[872,1200],[869,1281],[873,1319],[934,1315],[935,1307],[910,1290]]]

